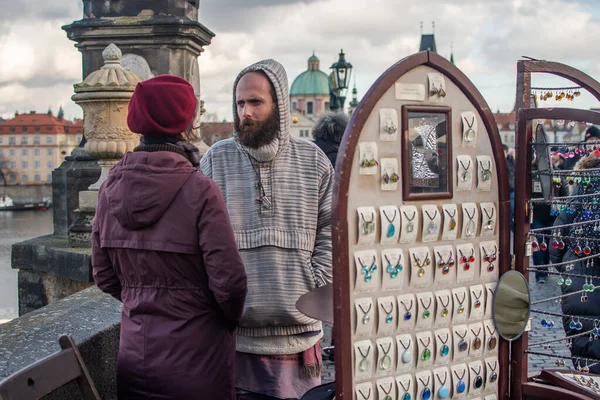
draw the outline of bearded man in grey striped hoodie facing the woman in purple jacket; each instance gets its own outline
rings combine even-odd
[[[333,168],[315,144],[290,136],[288,88],[274,60],[245,68],[233,86],[233,138],[201,161],[221,189],[248,275],[239,400],[297,399],[321,383],[322,325],[295,303],[331,282]]]

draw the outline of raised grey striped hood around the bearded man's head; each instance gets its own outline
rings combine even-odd
[[[237,89],[238,82],[242,79],[242,76],[248,72],[262,71],[267,75],[267,78],[273,84],[275,88],[275,95],[277,96],[277,111],[279,112],[279,151],[285,147],[290,140],[290,95],[289,85],[287,79],[287,73],[283,68],[283,65],[275,60],[268,59],[262,60],[255,64],[252,64],[242,70],[239,73],[233,84],[233,115],[237,114],[237,107],[235,104],[235,91]],[[238,133],[233,131],[233,136],[237,137]]]

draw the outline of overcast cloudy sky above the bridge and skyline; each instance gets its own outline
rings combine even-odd
[[[81,81],[81,56],[61,25],[80,19],[81,0],[0,0],[0,116],[62,104]],[[523,55],[567,63],[600,80],[599,0],[201,0],[200,22],[216,33],[200,57],[202,97],[209,113],[231,119],[231,87],[246,65],[275,58],[290,84],[314,50],[321,69],[343,48],[364,94],[399,59],[418,51],[419,23],[482,92],[492,110],[512,110],[516,61]],[[571,85],[536,75],[534,86]],[[584,94],[545,106],[597,107]]]

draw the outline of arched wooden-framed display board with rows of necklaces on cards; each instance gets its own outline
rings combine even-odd
[[[506,162],[468,78],[432,52],[387,70],[352,114],[333,204],[336,398],[507,399]]]

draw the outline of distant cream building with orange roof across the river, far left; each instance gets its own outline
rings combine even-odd
[[[0,122],[0,185],[52,182],[52,171],[78,146],[83,120],[31,111]]]

